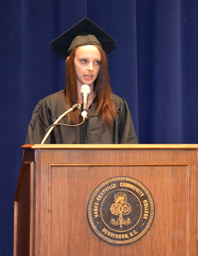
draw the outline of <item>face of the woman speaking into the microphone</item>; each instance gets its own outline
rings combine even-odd
[[[101,54],[94,45],[83,45],[76,48],[74,66],[78,86],[93,85],[101,65]]]

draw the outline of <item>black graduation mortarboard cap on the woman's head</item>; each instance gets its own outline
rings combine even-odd
[[[105,50],[115,42],[117,41],[112,36],[85,17],[50,44],[68,56],[72,49],[82,45],[96,44]]]

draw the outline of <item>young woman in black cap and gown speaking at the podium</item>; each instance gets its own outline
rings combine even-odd
[[[81,27],[82,21],[80,21]],[[91,21],[88,20],[88,22]],[[78,26],[79,23],[77,24]],[[65,33],[67,35],[68,32]],[[60,36],[61,39],[60,37],[57,38],[61,42],[61,47],[63,45],[62,41],[65,42],[65,33]],[[51,44],[54,42],[56,44],[57,39]],[[65,46],[65,49],[67,48]],[[65,53],[65,49],[62,51],[63,53]],[[83,33],[74,38],[68,49],[65,90],[50,95],[40,100],[37,104],[28,127],[26,144],[40,144],[44,138],[46,129],[61,114],[72,105],[82,103],[80,88],[84,84],[89,85],[91,89],[88,97],[88,115],[85,123],[80,127],[57,126],[53,129],[53,132],[45,143],[138,143],[126,101],[112,94],[107,71],[107,59],[102,45],[93,34]],[[76,110],[65,116],[60,123],[76,125],[81,122],[80,110]]]

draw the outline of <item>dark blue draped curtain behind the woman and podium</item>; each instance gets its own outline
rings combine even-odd
[[[198,143],[197,0],[8,0],[0,4],[0,255],[13,254],[13,201],[27,125],[41,98],[64,89],[49,45],[85,16],[116,38],[115,94],[139,143]]]

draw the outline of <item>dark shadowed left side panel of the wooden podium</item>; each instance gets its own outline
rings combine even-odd
[[[33,255],[34,251],[34,162],[24,161],[14,211],[14,256]]]

